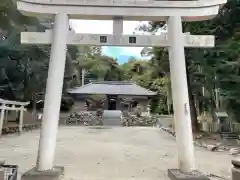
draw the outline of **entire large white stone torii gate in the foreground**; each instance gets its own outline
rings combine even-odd
[[[29,16],[54,17],[53,32],[22,34],[22,42],[52,44],[45,95],[43,122],[39,143],[37,172],[22,176],[35,179],[50,174],[54,168],[56,137],[63,86],[67,44],[167,46],[171,71],[174,120],[177,135],[179,170],[169,170],[170,179],[208,179],[192,173],[195,167],[189,109],[184,47],[212,47],[209,36],[191,36],[182,32],[182,21],[202,21],[218,14],[226,0],[155,1],[155,0],[19,0],[18,10]],[[113,35],[77,35],[69,33],[69,18],[114,20]],[[123,20],[166,21],[167,35],[123,36]],[[92,38],[94,37],[94,38]],[[80,39],[78,39],[80,38]],[[191,40],[195,39],[195,40]],[[203,39],[208,39],[204,41]],[[156,41],[155,41],[156,40]],[[159,41],[159,42],[158,42]],[[200,42],[200,43],[199,43]]]

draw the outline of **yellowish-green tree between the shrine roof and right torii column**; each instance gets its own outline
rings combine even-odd
[[[125,79],[131,79],[138,85],[157,92],[158,95],[152,100],[152,112],[167,114],[172,106],[170,80],[169,76],[159,76],[159,74],[168,74],[169,68],[156,64],[164,64],[164,62],[158,62],[154,56],[151,61],[131,60],[123,64],[122,69]]]

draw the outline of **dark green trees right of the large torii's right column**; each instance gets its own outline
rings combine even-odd
[[[201,23],[185,23],[184,29],[192,34],[213,34],[216,47],[188,49],[187,64],[192,94],[202,102],[200,111],[228,111],[238,120],[239,99],[239,23],[240,1],[230,0],[219,15]],[[203,94],[201,87],[204,87]],[[221,109],[216,109],[215,88],[220,89]]]

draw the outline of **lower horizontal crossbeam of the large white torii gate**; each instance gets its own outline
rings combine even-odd
[[[22,32],[22,44],[51,44],[51,31]],[[184,34],[185,47],[213,47],[214,36]],[[116,41],[118,39],[118,41]],[[133,46],[133,47],[167,47],[167,34],[162,35],[109,35],[109,34],[75,34],[69,32],[69,45],[99,46]]]

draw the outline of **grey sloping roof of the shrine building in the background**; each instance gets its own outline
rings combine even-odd
[[[109,94],[153,96],[155,92],[145,89],[133,82],[126,81],[92,81],[81,87],[68,90],[69,94]]]

